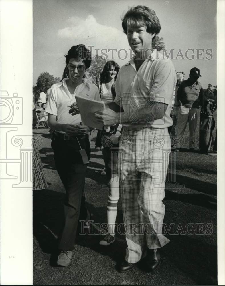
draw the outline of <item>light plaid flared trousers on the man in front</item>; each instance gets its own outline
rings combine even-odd
[[[123,128],[117,167],[127,262],[135,263],[146,255],[147,248],[160,248],[169,242],[162,234],[162,200],[170,152],[167,128]]]

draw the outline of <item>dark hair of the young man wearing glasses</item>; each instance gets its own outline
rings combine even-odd
[[[85,63],[86,69],[90,67],[92,59],[91,59],[91,52],[89,49],[85,47],[83,44],[79,44],[77,46],[72,46],[69,49],[68,53],[64,55],[66,57],[66,64],[68,65],[70,59],[83,59]]]

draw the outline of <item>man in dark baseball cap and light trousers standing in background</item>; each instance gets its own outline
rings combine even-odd
[[[177,90],[177,100],[180,105],[178,114],[177,148],[182,145],[187,121],[189,123],[190,139],[189,148],[194,150],[196,141],[196,128],[198,121],[198,108],[204,104],[202,84],[198,81],[201,76],[200,69],[193,67],[189,78],[181,82]]]

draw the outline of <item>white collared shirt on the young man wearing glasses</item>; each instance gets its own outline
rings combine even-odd
[[[85,78],[83,78],[83,83],[76,87],[74,94],[69,92],[66,80],[68,80],[68,78],[64,78],[61,82],[51,86],[45,111],[56,115],[56,121],[58,123],[76,125],[81,122],[80,114],[71,115],[69,113],[70,107],[68,107],[76,102],[75,96],[79,95],[98,101],[101,101],[101,99],[97,86],[89,83]]]

